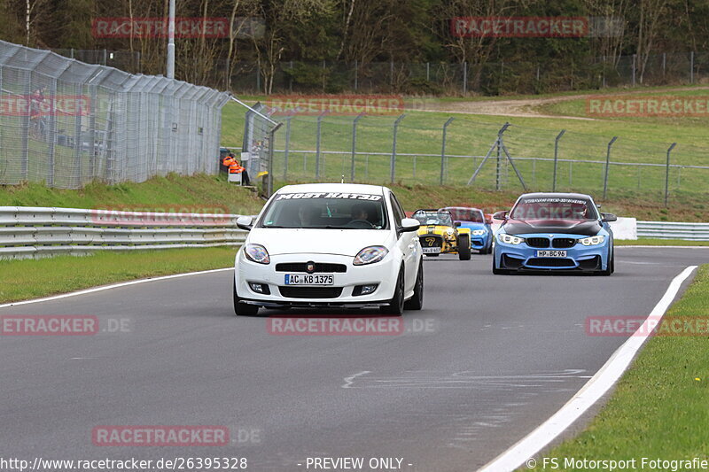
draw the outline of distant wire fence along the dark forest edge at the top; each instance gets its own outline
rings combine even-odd
[[[242,93],[537,94],[549,91],[703,83],[709,53],[673,52],[485,63],[284,61],[271,68],[238,61],[230,89]],[[222,67],[226,71],[225,66]],[[217,74],[219,75],[219,74]]]

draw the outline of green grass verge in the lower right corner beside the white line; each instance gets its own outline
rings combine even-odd
[[[668,320],[677,317],[705,319],[707,306],[709,266],[703,266],[665,317]],[[706,408],[709,350],[706,349],[706,339],[706,335],[652,337],[588,428],[544,456],[557,458],[561,466],[564,458],[572,457],[588,460],[709,459],[706,449],[709,444],[709,429],[706,428],[709,424],[709,409]],[[541,460],[537,463],[540,464]],[[535,470],[544,468],[540,465]]]

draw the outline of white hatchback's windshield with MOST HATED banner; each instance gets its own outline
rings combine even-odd
[[[270,203],[259,228],[384,229],[381,195],[282,193]]]

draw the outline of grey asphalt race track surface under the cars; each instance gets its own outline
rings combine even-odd
[[[709,249],[617,248],[611,277],[492,275],[490,256],[429,258],[425,309],[404,314],[400,336],[274,336],[268,319],[234,316],[229,271],[0,308],[92,314],[109,331],[126,323],[95,336],[0,337],[2,455],[245,457],[253,471],[393,457],[402,470],[472,470],[564,405],[623,343],[588,336],[588,316],[647,315],[700,263]],[[100,425],[224,425],[231,445],[97,446]]]

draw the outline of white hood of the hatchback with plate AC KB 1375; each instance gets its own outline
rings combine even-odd
[[[253,228],[248,243],[261,244],[271,256],[316,253],[354,257],[367,246],[391,249],[393,232],[388,229]]]

